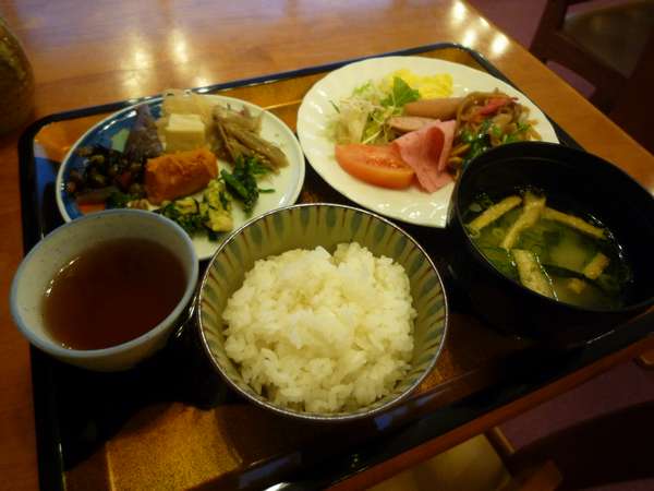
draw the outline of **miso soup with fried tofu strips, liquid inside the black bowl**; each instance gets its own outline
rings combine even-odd
[[[548,196],[522,190],[480,195],[464,215],[468,235],[498,271],[541,295],[590,309],[619,309],[632,272],[610,230]]]

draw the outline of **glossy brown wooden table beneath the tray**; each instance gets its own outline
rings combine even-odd
[[[654,157],[524,48],[457,0],[349,2],[0,0],[36,75],[34,119],[82,106],[299,69],[437,41],[482,52],[586,149],[654,191]],[[16,142],[0,137],[0,296],[23,255]],[[0,310],[0,476],[12,490],[38,486],[29,351]],[[647,346],[641,342],[508,407],[400,456],[363,486],[553,397]]]

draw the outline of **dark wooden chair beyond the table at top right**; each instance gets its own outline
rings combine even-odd
[[[548,0],[530,50],[593,84],[591,103],[654,153],[654,0],[569,12],[583,2]]]

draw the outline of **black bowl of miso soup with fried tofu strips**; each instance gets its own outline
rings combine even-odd
[[[654,303],[654,199],[610,163],[549,143],[474,159],[448,213],[450,272],[491,325],[579,345]]]

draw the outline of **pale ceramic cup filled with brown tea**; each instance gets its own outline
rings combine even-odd
[[[38,242],[11,288],[19,331],[77,367],[119,371],[165,346],[185,318],[198,264],[184,230],[138,209],[94,213]]]

